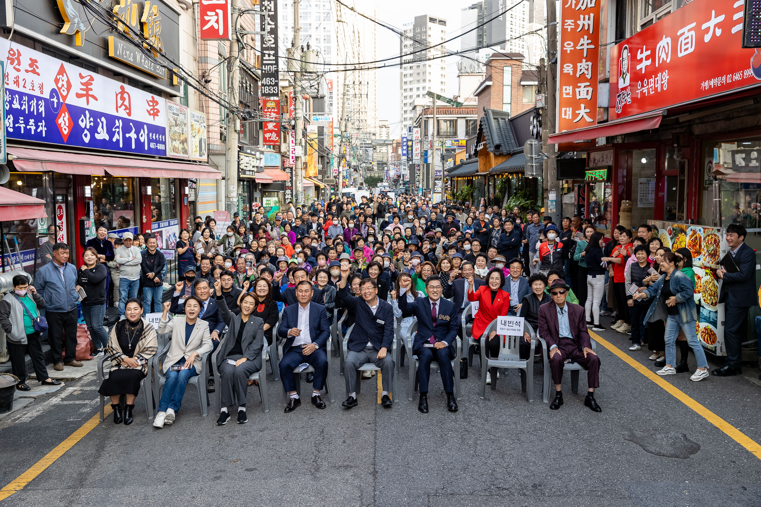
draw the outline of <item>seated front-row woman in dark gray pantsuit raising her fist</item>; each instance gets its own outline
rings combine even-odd
[[[217,293],[217,305],[221,318],[228,324],[228,334],[217,351],[217,369],[221,380],[219,394],[221,396],[221,412],[217,420],[218,426],[227,424],[230,420],[228,407],[237,402],[238,424],[248,422],[246,417],[246,397],[248,394],[248,378],[252,373],[262,369],[262,347],[264,343],[264,321],[251,315],[259,304],[253,293],[240,296],[240,315],[235,315],[228,309],[222,295],[222,284],[217,280],[214,284]]]

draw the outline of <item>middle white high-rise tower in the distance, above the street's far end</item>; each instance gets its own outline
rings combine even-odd
[[[415,121],[416,106],[431,103],[428,90],[447,93],[445,44],[447,20],[422,14],[415,21],[402,25],[400,40],[402,65],[399,84],[402,96],[401,119],[403,130]],[[435,47],[431,47],[435,46]]]

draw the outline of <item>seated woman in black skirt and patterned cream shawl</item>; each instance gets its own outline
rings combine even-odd
[[[137,298],[127,301],[125,314],[127,318],[117,322],[111,330],[106,347],[111,358],[111,371],[98,390],[101,395],[111,398],[116,424],[132,424],[132,409],[140,391],[140,381],[145,379],[148,361],[158,350],[156,330],[142,318],[142,304]],[[124,414],[119,404],[121,395],[127,398]]]

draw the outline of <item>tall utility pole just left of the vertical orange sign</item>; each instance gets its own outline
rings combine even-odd
[[[556,131],[556,109],[557,99],[555,96],[555,88],[557,83],[557,57],[558,57],[558,32],[557,32],[557,12],[555,9],[555,2],[547,2],[547,67],[546,67],[546,116],[542,132],[542,146],[547,158],[544,160],[543,176],[544,176],[544,211],[545,215],[552,217],[552,221],[560,223],[561,206],[562,201],[560,190],[557,181],[557,159],[555,144],[548,144],[547,140],[549,134],[554,134]],[[554,208],[555,211],[549,211],[549,198],[554,195]]]

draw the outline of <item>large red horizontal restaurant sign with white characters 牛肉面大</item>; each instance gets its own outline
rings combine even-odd
[[[694,0],[613,46],[610,119],[758,85],[761,49],[742,49],[743,2]]]

